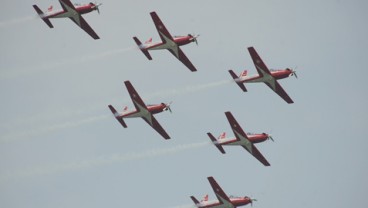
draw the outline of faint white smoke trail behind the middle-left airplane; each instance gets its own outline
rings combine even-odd
[[[17,131],[16,133],[1,135],[0,143],[7,143],[11,141],[29,139],[29,138],[33,138],[38,135],[47,134],[47,133],[51,133],[51,132],[62,130],[62,129],[78,127],[80,125],[84,125],[88,123],[93,123],[96,121],[106,119],[108,117],[109,116],[107,115],[91,116],[89,118],[85,118],[85,119],[78,120],[78,121],[65,122],[62,124],[56,124],[56,125],[51,125],[51,126],[44,125],[42,127],[39,127],[36,129],[33,128],[28,131]]]

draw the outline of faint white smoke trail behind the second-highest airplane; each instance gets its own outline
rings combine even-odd
[[[92,54],[92,55],[86,55],[86,56],[78,56],[78,58],[71,58],[69,60],[63,60],[63,61],[54,61],[45,63],[40,66],[33,66],[33,67],[26,67],[26,68],[20,68],[20,69],[10,69],[10,70],[2,70],[0,71],[0,80],[4,79],[12,79],[17,78],[20,76],[26,76],[34,73],[40,73],[43,71],[50,70],[52,68],[61,67],[64,65],[70,65],[70,64],[77,64],[77,63],[86,63],[90,61],[97,61],[104,59],[109,56],[118,55],[121,53],[129,52],[131,50],[136,49],[136,46],[127,47],[127,48],[119,48],[114,49],[110,51],[105,51],[99,54]],[[69,69],[70,67],[63,68],[62,70]],[[71,69],[71,68],[70,68]],[[73,70],[76,70],[76,68],[72,68]]]

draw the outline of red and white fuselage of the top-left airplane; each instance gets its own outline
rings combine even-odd
[[[78,14],[86,14],[89,12],[92,12],[93,10],[97,10],[97,7],[95,4],[93,3],[89,3],[89,4],[74,4],[74,7],[76,9],[76,12]],[[44,18],[66,18],[66,17],[71,17],[73,16],[73,14],[71,14],[71,12],[68,11],[64,11],[64,10],[49,10],[46,11],[44,13]]]

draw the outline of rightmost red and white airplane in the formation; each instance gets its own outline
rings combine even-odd
[[[294,103],[294,101],[289,97],[289,95],[285,92],[285,90],[281,87],[277,80],[284,79],[290,76],[295,76],[295,78],[298,78],[295,71],[290,68],[281,70],[269,70],[253,47],[249,47],[248,51],[250,53],[250,56],[252,57],[254,66],[258,71],[258,75],[248,76],[248,71],[244,70],[239,76],[237,76],[235,72],[230,69],[229,73],[233,77],[236,84],[238,84],[238,86],[244,92],[246,92],[247,89],[245,88],[244,83],[263,82],[287,103]]]

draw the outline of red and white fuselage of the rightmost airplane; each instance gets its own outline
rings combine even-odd
[[[264,74],[262,75],[253,75],[253,76],[243,76],[239,77],[236,81],[245,82],[245,83],[254,83],[254,82],[270,82],[271,79],[284,79],[293,73],[293,71],[289,68],[287,69],[279,69],[279,70],[270,70],[271,75]]]

